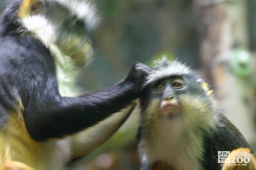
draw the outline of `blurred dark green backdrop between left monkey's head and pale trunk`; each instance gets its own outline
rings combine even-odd
[[[94,90],[120,81],[135,61],[163,54],[198,68],[192,0],[97,0],[101,23],[93,33],[95,57],[81,84]],[[90,80],[90,81],[89,81]]]

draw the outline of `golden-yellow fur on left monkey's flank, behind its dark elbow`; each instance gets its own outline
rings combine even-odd
[[[20,165],[25,163],[24,165],[32,166],[35,164],[35,157],[39,161],[42,159],[41,145],[29,136],[22,112],[23,105],[20,100],[17,110],[8,114],[7,127],[0,129],[0,170],[33,170]]]

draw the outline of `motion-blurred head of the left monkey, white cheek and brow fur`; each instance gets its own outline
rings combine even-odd
[[[95,9],[87,0],[24,0],[18,14],[47,48],[85,63],[93,53],[88,34],[98,23]]]

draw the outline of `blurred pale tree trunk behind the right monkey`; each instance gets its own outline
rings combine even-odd
[[[214,85],[223,114],[255,150],[255,76],[253,71],[247,75],[236,71],[251,69],[247,67],[253,67],[255,60],[251,55],[244,60],[242,53],[237,54],[249,51],[246,3],[247,0],[194,0],[204,76]],[[231,63],[236,67],[232,68]]]

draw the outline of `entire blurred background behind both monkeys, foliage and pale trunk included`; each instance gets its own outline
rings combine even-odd
[[[223,114],[256,149],[256,0],[94,1],[101,22],[91,33],[95,56],[79,88],[116,84],[136,61],[177,58],[210,83]],[[75,170],[138,170],[137,127],[135,111]]]

